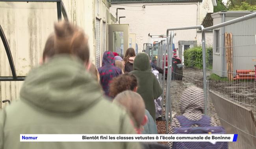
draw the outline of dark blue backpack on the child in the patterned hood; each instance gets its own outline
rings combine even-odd
[[[181,127],[174,128],[174,134],[225,134],[222,126],[211,126],[211,118],[202,116],[200,120],[189,120],[185,116],[176,116]],[[191,127],[197,124],[198,127]],[[228,142],[173,142],[173,149],[228,149]]]

